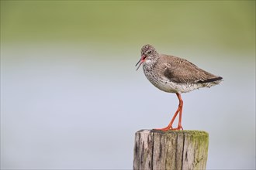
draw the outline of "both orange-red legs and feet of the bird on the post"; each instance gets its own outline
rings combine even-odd
[[[167,127],[165,128],[161,128],[161,129],[155,129],[155,130],[160,130],[160,131],[168,131],[169,129],[171,130],[183,130],[182,128],[182,107],[183,107],[183,100],[182,100],[182,96],[180,93],[176,93],[178,100],[179,100],[179,104],[178,104],[178,109],[175,112],[175,115],[172,117],[171,122],[168,124]],[[179,113],[179,115],[178,115]],[[172,128],[172,124],[175,121],[175,118],[178,115],[178,127],[177,128]]]

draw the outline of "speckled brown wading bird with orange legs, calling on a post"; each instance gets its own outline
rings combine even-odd
[[[157,53],[154,46],[147,44],[141,48],[141,57],[137,70],[143,64],[144,74],[159,90],[167,93],[176,93],[178,97],[178,109],[165,128],[155,130],[183,130],[182,108],[183,100],[181,93],[187,93],[202,87],[213,87],[223,81],[223,77],[215,76],[212,73],[200,69],[187,59],[178,56],[171,56]],[[178,127],[173,128],[173,123],[178,115]]]

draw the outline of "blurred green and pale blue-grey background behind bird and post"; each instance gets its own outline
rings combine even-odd
[[[208,169],[254,169],[255,1],[1,1],[1,168],[132,168],[178,107],[136,71],[147,43],[223,76],[182,94],[182,125]]]

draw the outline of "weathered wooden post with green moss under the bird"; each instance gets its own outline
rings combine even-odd
[[[206,169],[208,143],[205,131],[137,131],[133,169]]]

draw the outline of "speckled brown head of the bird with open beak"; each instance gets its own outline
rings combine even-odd
[[[154,48],[154,46],[151,46],[149,44],[143,46],[141,48],[141,58],[139,62],[135,65],[137,66],[139,63],[139,66],[137,67],[137,70],[140,68],[140,65],[144,63],[146,60],[154,59],[154,57],[157,56],[157,51]]]

